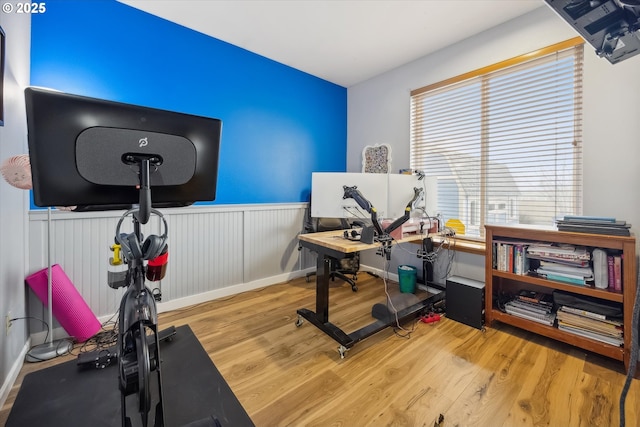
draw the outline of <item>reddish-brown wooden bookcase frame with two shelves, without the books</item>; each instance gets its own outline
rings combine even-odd
[[[487,225],[485,248],[485,324],[491,327],[494,321],[506,323],[544,335],[582,349],[624,362],[628,369],[631,355],[631,329],[633,303],[636,296],[636,239],[635,237],[610,236],[600,234],[572,233],[554,230],[536,230],[508,226]],[[602,248],[617,250],[623,254],[622,292],[598,289],[594,286],[571,285],[546,280],[540,277],[519,275],[506,271],[498,271],[493,265],[493,242],[501,239],[516,239],[524,242],[545,242],[585,246],[590,249]],[[570,332],[512,316],[497,306],[496,297],[502,293],[516,293],[521,289],[551,293],[554,289],[588,295],[623,305],[623,347],[606,344],[598,340],[585,338]],[[637,376],[637,373],[636,373]]]

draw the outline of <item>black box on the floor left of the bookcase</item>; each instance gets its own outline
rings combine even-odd
[[[446,283],[447,317],[482,329],[484,327],[484,283],[451,276]]]

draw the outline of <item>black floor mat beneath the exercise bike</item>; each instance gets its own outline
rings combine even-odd
[[[165,426],[211,415],[222,427],[254,425],[189,326],[160,344],[160,358]],[[120,426],[117,365],[80,369],[73,360],[26,375],[6,426]]]

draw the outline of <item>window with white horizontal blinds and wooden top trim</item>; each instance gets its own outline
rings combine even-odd
[[[483,237],[582,214],[582,56],[575,38],[411,92],[411,168],[445,221]]]

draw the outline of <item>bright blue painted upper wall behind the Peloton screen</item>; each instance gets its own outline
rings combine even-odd
[[[221,119],[215,204],[307,201],[312,172],[346,171],[346,88],[115,0],[46,7],[31,84]]]

